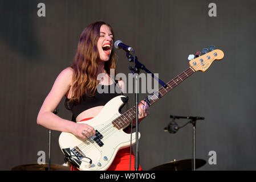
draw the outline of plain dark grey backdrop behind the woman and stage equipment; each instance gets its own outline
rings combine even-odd
[[[46,4],[46,17],[37,16],[40,2]],[[175,135],[163,130],[174,114],[205,117],[197,123],[197,158],[208,162],[209,151],[216,151],[217,164],[201,170],[255,170],[256,3],[214,1],[217,17],[210,18],[210,2],[1,0],[0,169],[36,163],[38,151],[48,159],[48,130],[36,125],[40,106],[56,76],[71,63],[83,29],[105,20],[116,40],[135,48],[141,63],[165,82],[189,67],[191,53],[211,44],[225,53],[222,61],[194,73],[152,106],[140,125],[141,167],[192,158],[192,125]],[[124,52],[117,55],[117,72],[128,74]],[[71,118],[63,101],[59,116]],[[55,164],[63,163],[59,134],[52,132]]]

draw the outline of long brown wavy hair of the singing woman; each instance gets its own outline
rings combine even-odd
[[[94,22],[89,24],[80,35],[78,49],[71,65],[71,68],[74,69],[70,88],[73,96],[69,102],[80,102],[80,99],[85,93],[89,96],[95,95],[97,84],[99,83],[97,80],[97,75],[99,74],[97,64],[97,59],[99,59],[97,41],[100,36],[100,27],[103,24],[107,25],[113,34],[113,29],[109,24],[105,22]],[[116,75],[116,61],[117,56],[114,49],[112,49],[109,60],[106,61],[104,65],[108,75],[110,75],[110,69],[115,69]]]

